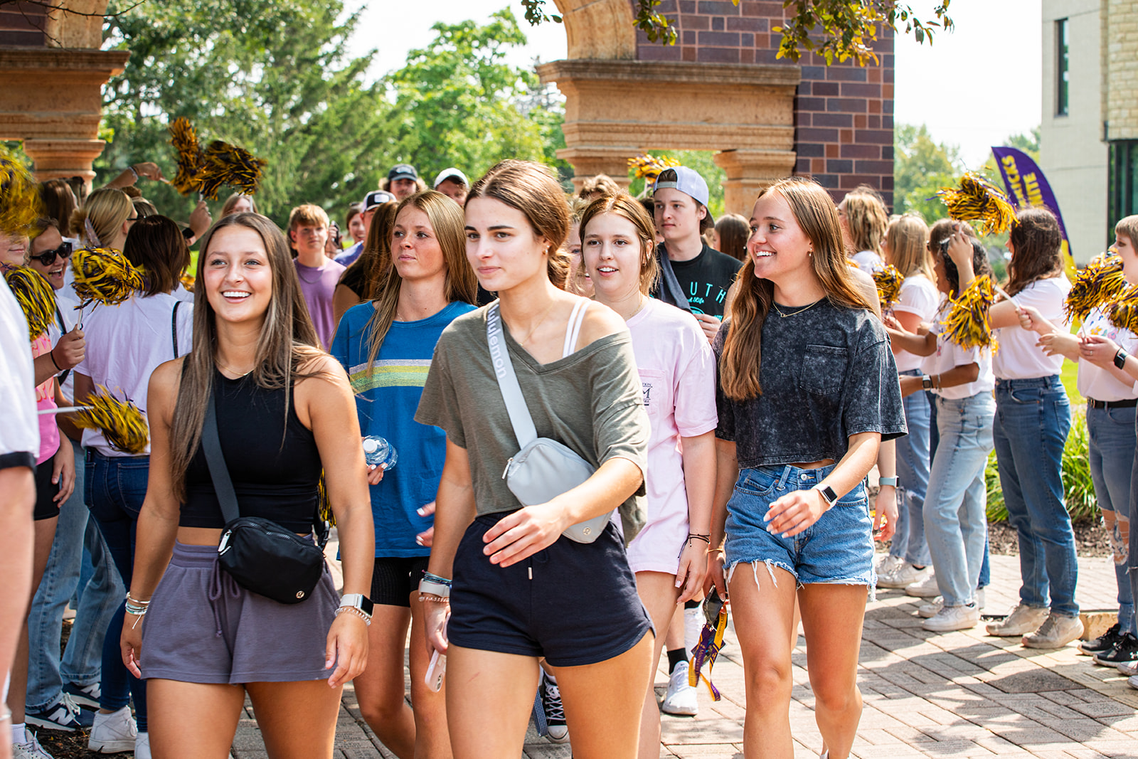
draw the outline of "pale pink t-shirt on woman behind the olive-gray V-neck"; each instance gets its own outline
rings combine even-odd
[[[688,533],[679,438],[710,432],[719,421],[715,354],[691,314],[655,298],[628,320],[628,330],[651,424],[648,522],[628,545],[628,566],[675,575]]]

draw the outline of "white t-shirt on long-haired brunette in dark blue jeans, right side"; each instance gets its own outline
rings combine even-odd
[[[1044,319],[1061,330],[1070,330],[1071,323],[1063,313],[1063,303],[1071,291],[1071,282],[1064,274],[1050,279],[1036,280],[1015,294],[1013,300],[1020,306],[1032,306]],[[1029,379],[1058,374],[1063,368],[1063,356],[1047,356],[1036,347],[1039,335],[1029,332],[1019,324],[992,330],[999,349],[992,356],[992,371],[999,379]]]

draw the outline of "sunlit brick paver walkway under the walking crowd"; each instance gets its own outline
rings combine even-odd
[[[1085,610],[1116,607],[1108,559],[1079,560],[1079,603]],[[1019,592],[1019,560],[992,556],[989,613],[1004,613]],[[1041,759],[1138,758],[1138,691],[1115,670],[1095,667],[1074,646],[1031,651],[1015,638],[984,635],[983,627],[926,633],[915,599],[884,591],[866,613],[858,684],[865,711],[853,743],[861,759],[909,757],[1039,757]],[[742,759],[743,667],[734,630],[715,669],[724,700],[700,690],[698,717],[663,716],[660,757]],[[795,759],[818,756],[814,698],[806,673],[805,640],[793,654],[791,726]],[[667,686],[657,673],[657,691]],[[337,758],[394,757],[360,718],[355,694],[344,692]],[[264,745],[251,710],[233,743],[234,759],[261,759]],[[528,759],[569,759],[530,727]]]

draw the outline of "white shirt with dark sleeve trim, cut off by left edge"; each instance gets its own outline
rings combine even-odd
[[[0,277],[0,282],[3,278]],[[35,372],[27,320],[8,289],[0,283],[0,469],[34,467],[40,453],[40,422],[35,415]]]

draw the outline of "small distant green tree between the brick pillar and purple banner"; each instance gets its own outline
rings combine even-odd
[[[893,130],[893,211],[917,213],[930,224],[945,215],[937,190],[951,187],[963,171],[956,146],[937,142],[922,124]]]

